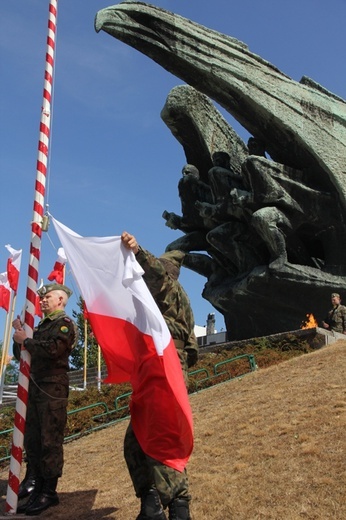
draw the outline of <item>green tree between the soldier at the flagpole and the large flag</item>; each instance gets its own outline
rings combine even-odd
[[[79,297],[77,305],[80,312],[75,310],[72,311],[73,319],[75,320],[78,327],[78,342],[71,353],[71,365],[75,369],[81,369],[84,367],[84,351],[85,351],[85,336],[87,337],[87,368],[96,367],[98,359],[98,344],[93,331],[90,327],[90,323],[85,319],[85,306],[84,300]],[[101,366],[105,366],[105,361],[101,356]]]

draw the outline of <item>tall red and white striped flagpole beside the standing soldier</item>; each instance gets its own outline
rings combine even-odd
[[[30,258],[24,317],[24,328],[27,336],[29,337],[32,337],[34,329],[38,266],[41,253],[42,219],[44,214],[44,196],[46,189],[48,149],[51,125],[51,100],[53,90],[57,8],[57,0],[50,0],[46,47],[46,65],[43,88],[43,105],[40,120],[40,135],[36,165],[35,198],[33,206]],[[16,412],[14,418],[10,471],[5,508],[7,514],[14,514],[17,510],[20,467],[23,455],[24,429],[28,402],[30,361],[31,359],[29,352],[22,348]]]

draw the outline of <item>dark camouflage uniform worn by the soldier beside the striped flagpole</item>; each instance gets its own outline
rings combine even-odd
[[[24,341],[31,354],[24,448],[28,468],[43,479],[62,475],[68,358],[76,341],[77,327],[65,311],[46,316]],[[14,343],[13,352],[19,359],[20,345]]]

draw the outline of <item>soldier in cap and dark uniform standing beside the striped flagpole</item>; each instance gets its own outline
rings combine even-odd
[[[13,352],[20,358],[21,345],[30,352],[30,383],[24,448],[27,471],[18,498],[29,500],[18,513],[38,515],[57,505],[58,478],[63,468],[64,429],[69,394],[69,355],[77,341],[77,327],[65,313],[72,291],[60,284],[38,290],[44,318],[28,338],[19,317],[14,320]]]

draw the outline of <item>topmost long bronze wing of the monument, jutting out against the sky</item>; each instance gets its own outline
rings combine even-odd
[[[217,101],[277,162],[321,169],[346,207],[346,103],[293,81],[242,42],[142,2],[102,9],[95,27]]]

